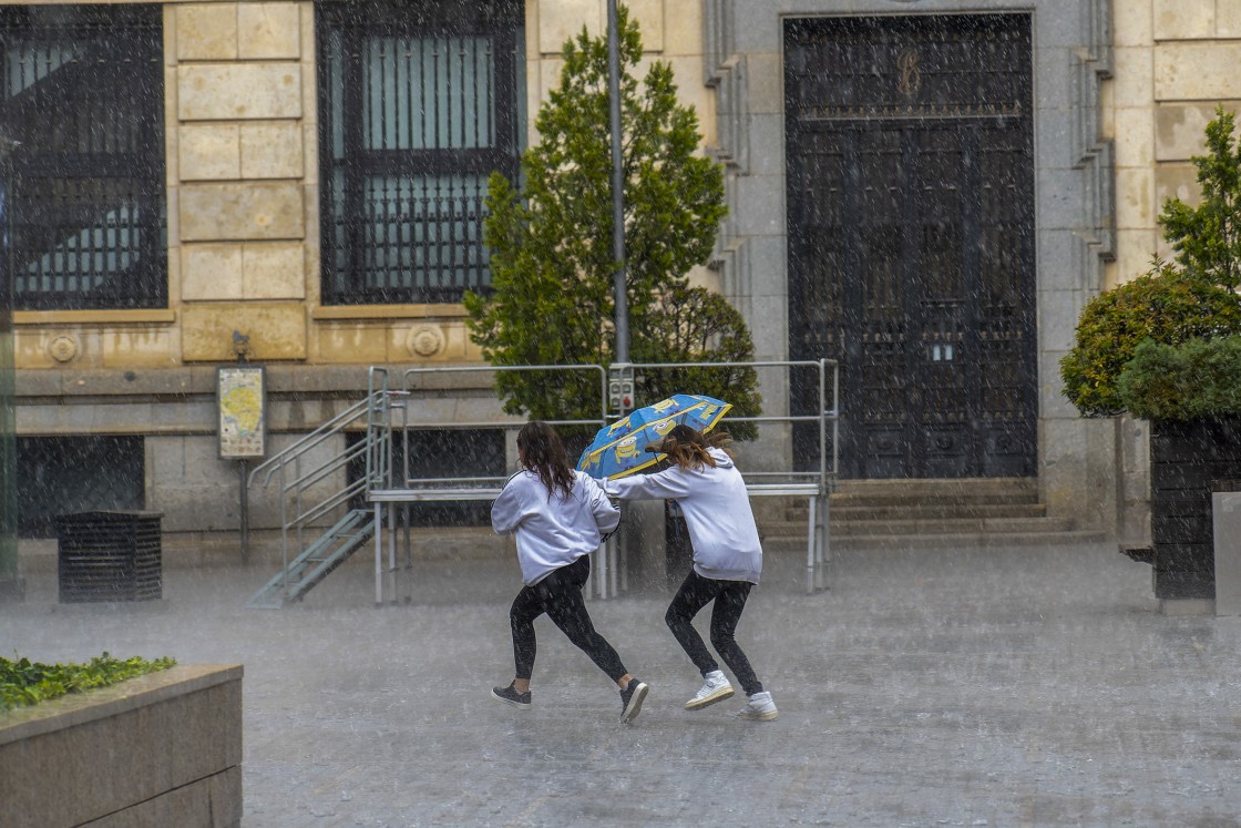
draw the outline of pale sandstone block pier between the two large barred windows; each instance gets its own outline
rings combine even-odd
[[[311,15],[299,2],[168,7],[169,254],[186,362],[235,359],[233,330],[253,359],[307,356]]]

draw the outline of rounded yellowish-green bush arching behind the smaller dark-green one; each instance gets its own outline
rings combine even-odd
[[[1195,273],[1157,263],[1086,304],[1073,349],[1060,360],[1064,394],[1087,417],[1118,415],[1127,410],[1118,381],[1143,340],[1176,345],[1237,334],[1241,297]]]

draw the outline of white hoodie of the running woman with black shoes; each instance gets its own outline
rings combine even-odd
[[[620,523],[620,510],[583,472],[573,472],[573,489],[549,495],[531,470],[517,472],[491,504],[491,528],[517,536],[521,580],[537,583],[598,549],[603,533]]]

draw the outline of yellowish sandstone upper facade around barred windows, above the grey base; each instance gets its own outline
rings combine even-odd
[[[526,4],[527,139],[563,42],[603,31],[606,0]],[[633,0],[652,58],[673,63],[715,143],[699,4]],[[463,362],[480,353],[460,305],[321,307],[314,4],[164,4],[169,195],[166,310],[21,312],[19,370],[176,367],[251,359]],[[695,273],[710,283],[711,272]]]

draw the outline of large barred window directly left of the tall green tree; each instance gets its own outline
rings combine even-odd
[[[515,180],[520,0],[320,0],[324,304],[457,303],[489,283],[486,180]]]

